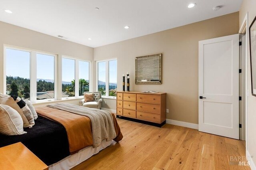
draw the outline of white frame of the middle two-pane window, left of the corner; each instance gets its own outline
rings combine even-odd
[[[62,100],[63,99],[76,99],[76,98],[82,99],[84,96],[79,96],[79,61],[86,61],[89,63],[89,91],[91,91],[92,90],[91,88],[93,87],[93,85],[92,85],[93,81],[91,81],[91,74],[90,74],[92,62],[88,61],[88,60],[80,59],[80,58],[70,57],[68,55],[62,55],[61,61],[63,58],[75,60],[75,96],[74,97],[62,97]],[[61,70],[61,74],[62,74],[62,70]],[[60,83],[61,83],[61,87],[62,87],[62,81]],[[60,90],[60,93],[62,95],[62,88]]]

